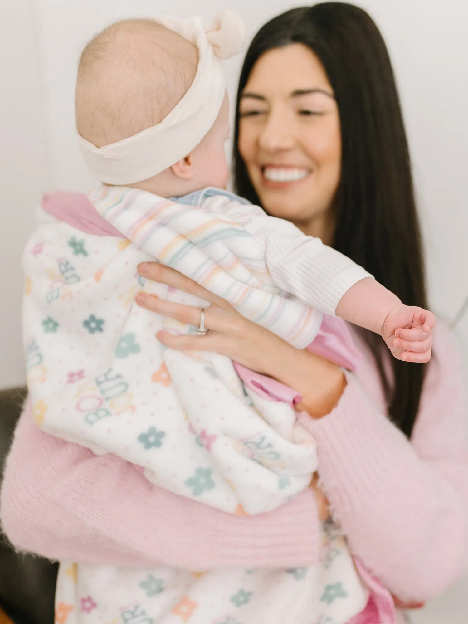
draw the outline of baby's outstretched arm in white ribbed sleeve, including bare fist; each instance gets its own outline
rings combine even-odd
[[[429,361],[434,314],[402,304],[361,266],[292,223],[253,217],[245,227],[263,241],[268,270],[280,288],[324,313],[380,334],[397,359]]]

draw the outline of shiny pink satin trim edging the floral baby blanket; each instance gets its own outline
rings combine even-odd
[[[84,193],[57,191],[46,193],[42,198],[41,207],[52,217],[72,225],[81,232],[97,236],[124,236],[109,222],[101,217]],[[346,368],[356,370],[361,354],[354,346],[348,326],[340,318],[323,315],[323,321],[314,341],[307,347],[308,351]],[[276,379],[255,373],[241,364],[234,363],[236,373],[249,388],[260,396],[272,401],[282,401],[294,406],[302,400],[298,392],[288,388]],[[371,573],[363,563],[355,557],[356,567],[371,595],[363,612],[358,613],[348,624],[394,624],[396,612],[391,594]]]

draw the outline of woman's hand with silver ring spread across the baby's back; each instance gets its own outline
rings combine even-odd
[[[205,308],[205,336],[173,336],[167,331],[157,334],[165,346],[178,351],[212,351],[225,355],[257,373],[266,374],[294,388],[303,396],[301,411],[312,417],[328,414],[341,396],[346,381],[341,369],[305,349],[296,349],[275,334],[248,321],[227,301],[167,266],[143,263],[140,275],[196,295],[211,303]],[[139,293],[137,303],[147,310],[199,326],[200,309],[165,301],[157,296]]]

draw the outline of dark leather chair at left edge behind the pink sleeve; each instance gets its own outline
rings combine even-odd
[[[0,391],[0,478],[25,388]],[[54,624],[57,563],[20,555],[0,532],[0,609],[14,624]]]

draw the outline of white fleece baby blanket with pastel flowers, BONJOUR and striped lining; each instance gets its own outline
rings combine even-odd
[[[37,424],[94,452],[118,454],[161,487],[230,513],[274,509],[307,487],[315,446],[293,407],[241,383],[228,358],[163,348],[158,330],[190,328],[139,308],[134,297],[144,290],[207,306],[142,280],[137,265],[157,258],[301,348],[316,335],[321,314],[280,288],[289,275],[285,260],[300,249],[320,261],[321,245],[306,250],[296,228],[283,228],[286,254],[278,260],[275,236],[265,236],[271,218],[222,193],[208,193],[200,210],[129,188],[100,187],[89,199],[127,240],[84,233],[42,212],[24,255],[24,338]],[[367,275],[350,261],[337,268],[340,262],[329,270],[331,286],[322,276],[313,293],[326,312],[334,311],[346,271],[353,279]],[[57,597],[57,609],[90,624],[342,624],[363,610],[368,591],[329,525],[322,565],[201,577],[165,567],[62,565]]]

